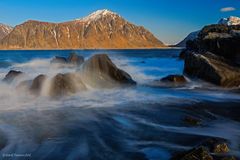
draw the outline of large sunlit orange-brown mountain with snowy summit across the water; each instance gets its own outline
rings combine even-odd
[[[64,23],[27,21],[1,42],[2,49],[158,48],[165,45],[144,27],[108,10]]]

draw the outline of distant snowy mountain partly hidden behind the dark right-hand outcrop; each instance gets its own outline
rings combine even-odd
[[[235,17],[235,16],[230,16],[229,18],[222,18],[218,22],[218,24],[227,25],[227,26],[240,25],[240,18]],[[184,40],[182,40],[181,42],[179,42],[175,46],[176,47],[186,47],[186,42],[188,40],[193,40],[193,39],[197,38],[199,32],[200,32],[200,30],[190,33],[186,38],[184,38]]]

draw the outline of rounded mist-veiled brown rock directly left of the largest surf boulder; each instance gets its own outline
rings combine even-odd
[[[78,91],[86,90],[86,86],[78,74],[66,73],[57,74],[51,80],[50,96],[59,97],[74,94]]]

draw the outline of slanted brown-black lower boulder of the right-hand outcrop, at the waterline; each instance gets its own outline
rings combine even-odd
[[[209,52],[187,54],[184,73],[223,87],[238,87],[240,85],[240,69]]]

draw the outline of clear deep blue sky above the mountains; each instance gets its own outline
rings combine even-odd
[[[98,9],[117,12],[173,44],[222,17],[240,16],[240,0],[0,0],[0,23],[63,22]]]

